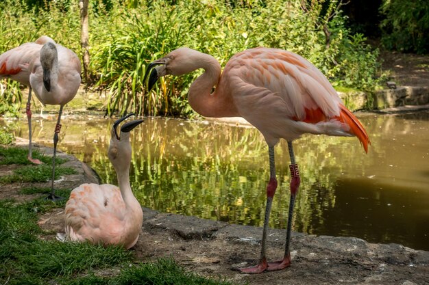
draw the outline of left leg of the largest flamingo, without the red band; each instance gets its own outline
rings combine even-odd
[[[273,204],[275,189],[277,189],[277,179],[275,178],[274,147],[269,146],[269,182],[267,185],[267,206],[265,207],[264,228],[262,231],[262,245],[260,247],[260,260],[259,260],[259,263],[254,267],[238,269],[243,273],[261,273],[265,271],[268,267],[267,257],[265,255],[266,254],[265,246],[267,244],[269,215],[271,213],[271,206]]]

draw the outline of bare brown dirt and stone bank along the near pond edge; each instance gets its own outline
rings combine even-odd
[[[51,153],[49,148],[41,152]],[[56,188],[73,188],[83,182],[97,182],[97,176],[84,163],[69,158],[64,166],[74,167],[77,174],[56,181]],[[0,176],[10,174],[19,165],[0,167]],[[0,199],[32,200],[37,195],[24,195],[19,189],[29,185],[11,184],[0,187]],[[49,187],[49,182],[32,185]],[[50,232],[64,232],[63,208],[45,213],[38,221]],[[220,277],[236,284],[429,284],[429,252],[402,245],[371,244],[353,237],[314,236],[293,233],[293,264],[282,271],[248,275],[234,270],[255,264],[259,258],[262,229],[230,225],[158,213],[143,208],[144,222],[138,243],[130,249],[137,260],[149,261],[173,257],[189,271]],[[270,260],[282,258],[285,230],[271,230],[268,239]],[[56,239],[56,234],[41,236]],[[120,269],[99,272],[112,275]]]

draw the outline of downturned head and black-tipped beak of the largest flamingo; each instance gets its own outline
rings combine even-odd
[[[156,81],[160,77],[164,77],[168,74],[182,75],[201,68],[201,54],[202,53],[199,51],[195,51],[187,47],[181,47],[179,49],[175,49],[168,55],[151,62],[147,66],[145,77],[143,79],[143,82],[146,82],[147,76],[150,74],[147,90],[152,90]]]

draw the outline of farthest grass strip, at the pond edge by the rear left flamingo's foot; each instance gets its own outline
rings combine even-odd
[[[33,165],[27,159],[28,149],[27,148],[3,148],[0,147],[0,165],[10,165],[10,164],[22,164],[22,165]],[[52,158],[47,157],[45,154],[40,154],[38,150],[33,150],[33,158],[39,159],[42,163],[51,164]],[[56,157],[55,159],[56,165],[65,163],[67,159],[59,159]]]

